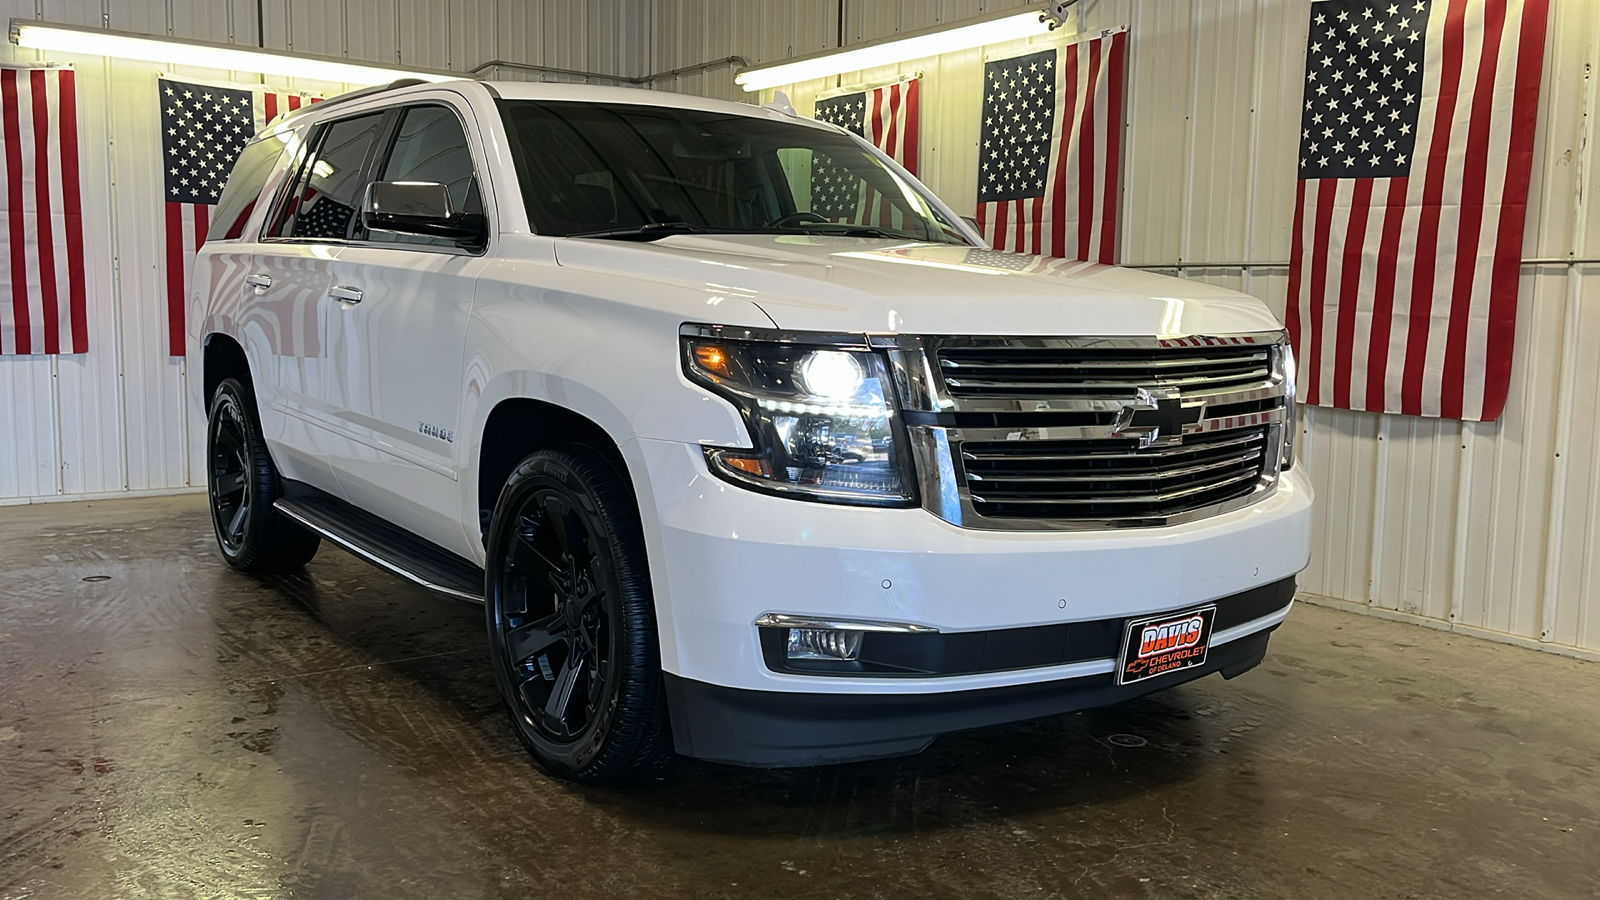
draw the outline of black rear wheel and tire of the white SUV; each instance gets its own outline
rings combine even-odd
[[[254,396],[237,378],[224,380],[211,396],[206,485],[211,530],[234,569],[291,572],[317,554],[322,538],[272,508],[280,493],[278,469],[261,437]]]

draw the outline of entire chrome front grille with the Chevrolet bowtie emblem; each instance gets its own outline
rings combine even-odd
[[[963,528],[1174,525],[1269,496],[1290,440],[1282,331],[906,336],[888,346],[923,506]]]

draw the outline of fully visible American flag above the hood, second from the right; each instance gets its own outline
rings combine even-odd
[[[984,64],[978,227],[995,250],[1110,263],[1126,29]]]

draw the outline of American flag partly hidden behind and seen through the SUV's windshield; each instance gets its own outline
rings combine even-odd
[[[907,78],[893,85],[816,101],[818,122],[854,131],[885,155],[917,175],[918,85]],[[853,224],[894,227],[898,213],[877,191],[845,167],[826,157],[811,167],[811,211]]]

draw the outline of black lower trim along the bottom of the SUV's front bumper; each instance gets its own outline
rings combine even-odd
[[[1130,685],[1115,673],[944,693],[789,693],[666,676],[683,756],[739,765],[819,765],[918,753],[933,738],[1107,706],[1211,673],[1234,677],[1267,653],[1274,628],[1213,647],[1203,666]]]

